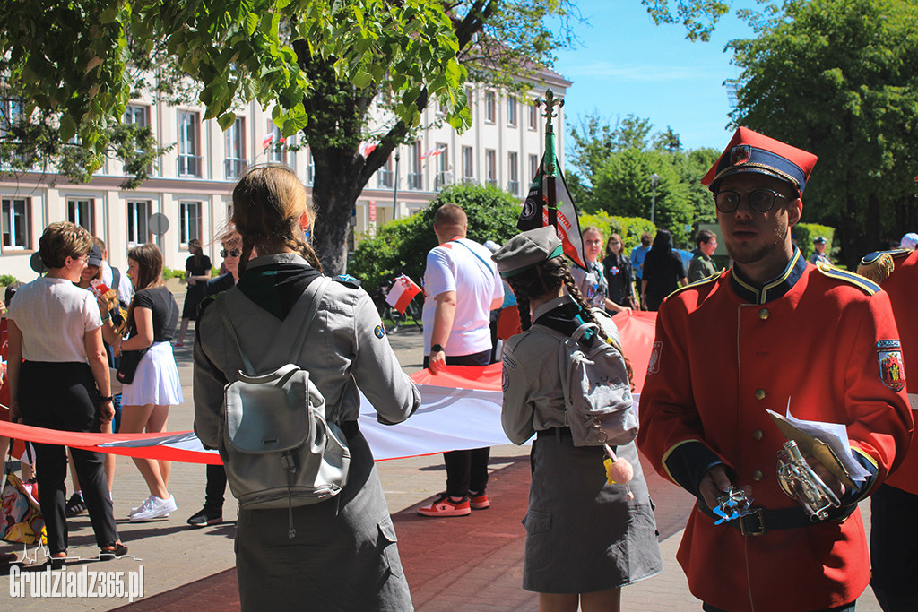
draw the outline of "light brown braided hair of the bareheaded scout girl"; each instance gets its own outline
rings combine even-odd
[[[229,220],[242,239],[240,275],[252,256],[252,249],[262,252],[280,246],[299,253],[321,272],[322,264],[316,251],[299,238],[303,217],[311,227],[315,215],[308,204],[306,189],[293,169],[281,163],[252,166],[233,188],[232,204]]]

